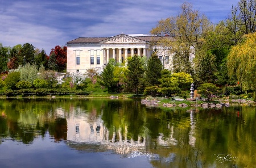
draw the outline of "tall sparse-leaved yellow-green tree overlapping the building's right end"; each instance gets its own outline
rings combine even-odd
[[[151,33],[160,38],[159,44],[168,49],[170,54],[175,53],[175,72],[193,75],[191,54],[200,53],[209,30],[212,30],[212,26],[206,16],[185,2],[181,5],[179,15],[160,20]]]

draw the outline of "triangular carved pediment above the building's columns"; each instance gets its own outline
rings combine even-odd
[[[114,37],[110,37],[109,39],[102,40],[100,43],[145,43],[146,41],[137,39],[136,37],[128,36],[128,35],[117,35]]]

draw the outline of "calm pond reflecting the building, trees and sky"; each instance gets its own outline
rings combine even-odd
[[[254,167],[255,107],[0,99],[0,167]]]

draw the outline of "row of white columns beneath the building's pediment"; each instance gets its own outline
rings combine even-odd
[[[115,60],[117,60],[116,59],[116,54],[117,53],[115,53],[115,49],[116,48],[111,48],[112,50],[113,50],[113,58],[115,59]],[[118,61],[121,61],[122,60],[122,48],[118,48],[119,49],[119,51],[118,51]],[[125,56],[125,59],[126,59],[126,57],[128,56],[128,49],[129,48],[124,48],[125,49],[125,54],[124,54],[124,56]],[[134,51],[135,51],[135,48],[130,48],[131,49],[131,56],[134,56]],[[137,48],[137,51],[138,51],[138,53],[137,53],[137,55],[138,56],[142,56],[142,50],[141,50],[142,48]],[[109,62],[109,57],[110,57],[110,48],[107,48],[107,49],[103,49],[103,51],[104,51],[104,57],[106,57],[106,60],[105,60],[105,64],[107,63],[107,62]],[[106,51],[106,56],[105,56],[105,51]],[[146,48],[143,48],[143,55],[144,56],[146,56],[146,57],[149,57],[150,55],[151,55],[151,53],[150,53],[150,50],[148,50],[148,49],[146,49]]]

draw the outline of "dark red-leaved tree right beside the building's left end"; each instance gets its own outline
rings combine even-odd
[[[67,46],[61,48],[59,45],[56,45],[55,48],[52,48],[50,56],[52,52],[56,54],[57,72],[65,72],[67,68]]]

